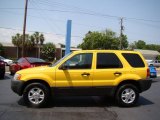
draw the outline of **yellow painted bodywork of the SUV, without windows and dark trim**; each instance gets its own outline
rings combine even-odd
[[[60,66],[74,55],[80,53],[93,53],[91,69],[77,69],[77,70],[61,70]],[[123,64],[123,68],[116,69],[96,69],[97,53],[115,53]],[[136,53],[139,54],[145,63],[144,68],[132,68],[122,53]],[[75,51],[54,67],[36,67],[18,71],[21,74],[21,80],[44,80],[51,87],[85,87],[85,86],[117,86],[124,80],[140,80],[146,79],[147,64],[139,52],[134,51],[119,51],[119,50],[85,50]],[[115,75],[115,72],[122,73]],[[90,74],[83,76],[83,73]]]

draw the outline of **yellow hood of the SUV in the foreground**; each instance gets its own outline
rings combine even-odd
[[[27,68],[18,71],[18,74],[35,74],[35,73],[45,73],[45,72],[53,72],[55,68],[54,67],[48,67],[48,66],[40,66],[40,67],[34,67],[34,68]]]

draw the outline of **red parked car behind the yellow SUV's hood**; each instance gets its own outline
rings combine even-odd
[[[17,71],[26,69],[26,68],[32,68],[37,66],[45,66],[49,65],[50,63],[39,59],[39,58],[33,58],[33,57],[22,57],[18,59],[17,62],[14,62],[10,65],[9,70],[11,75],[15,74]]]

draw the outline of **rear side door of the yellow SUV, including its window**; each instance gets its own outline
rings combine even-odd
[[[115,53],[99,52],[96,57],[93,86],[112,86],[123,72],[123,65]]]

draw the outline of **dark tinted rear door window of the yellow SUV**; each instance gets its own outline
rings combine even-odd
[[[98,53],[97,69],[122,68],[122,63],[114,53]]]

